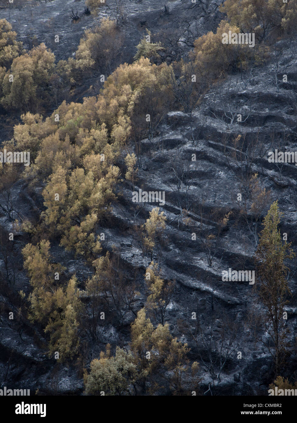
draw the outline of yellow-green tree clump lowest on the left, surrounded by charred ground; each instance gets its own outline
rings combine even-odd
[[[60,264],[52,264],[50,242],[42,240],[36,246],[27,244],[23,250],[24,267],[28,272],[33,291],[29,295],[31,321],[44,326],[50,333],[49,354],[59,352],[59,360],[72,358],[78,349],[78,313],[82,309],[75,276],[63,290],[58,286],[65,270]]]

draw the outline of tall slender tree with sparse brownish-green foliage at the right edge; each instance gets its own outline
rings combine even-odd
[[[295,256],[290,248],[291,243],[283,242],[281,239],[278,225],[282,214],[278,201],[272,203],[264,218],[264,229],[261,231],[255,253],[257,266],[255,288],[265,309],[262,323],[268,335],[264,344],[272,355],[276,374],[280,374],[280,369],[289,353],[289,328],[286,325],[284,306],[289,302],[287,298],[291,295],[291,291],[287,282],[290,269],[286,266],[286,261]]]

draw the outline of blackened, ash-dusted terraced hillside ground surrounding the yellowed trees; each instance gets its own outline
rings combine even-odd
[[[124,28],[126,39],[130,40],[123,57],[129,63],[135,54],[133,46],[138,44],[143,31],[135,29],[136,23],[146,18],[153,30],[163,19],[157,5],[149,3],[150,9],[145,1],[131,1],[126,9],[128,21]],[[55,17],[52,16],[54,4],[60,10]],[[168,4],[173,17],[184,10],[181,2]],[[82,2],[77,5],[81,8]],[[38,8],[42,12],[36,9],[30,25],[38,40],[45,42],[49,37],[47,30],[41,30],[45,16],[54,19],[60,27],[69,9],[76,10],[76,5],[73,1],[55,0]],[[8,19],[8,13],[11,13],[13,24],[21,11],[5,9],[1,17]],[[200,8],[191,13],[193,22],[199,22],[198,36],[214,29],[220,20],[218,11],[210,14],[206,22],[204,18],[198,20],[202,15]],[[74,31],[71,22],[67,24],[64,29],[67,41],[60,51],[55,51],[58,59],[65,57],[66,52],[70,56],[79,43],[82,30],[93,25],[84,23],[86,19],[83,17],[75,24],[80,25],[80,30]],[[17,31],[24,40],[24,27]],[[129,151],[137,155],[135,181],[131,184],[124,177],[118,181],[117,200],[112,203],[110,215],[100,221],[96,235],[104,233],[101,254],[118,253],[118,269],[121,268],[124,278],[135,281],[138,294],[133,302],[126,302],[120,310],[120,318],[106,313],[106,320],[99,324],[95,339],[80,332],[80,352],[67,366],[48,357],[41,325],[32,324],[25,314],[19,321],[7,317],[9,310],[19,316],[17,293],[22,290],[27,297],[31,292],[21,250],[32,239],[22,229],[15,228],[4,212],[0,215],[2,237],[14,232],[14,242],[8,247],[1,241],[1,277],[11,282],[2,282],[0,294],[3,304],[0,316],[2,385],[27,388],[32,392],[39,390],[41,394],[82,395],[82,369],[89,369],[91,360],[99,357],[106,344],[110,343],[113,349],[115,346],[128,348],[130,325],[147,301],[146,269],[154,261],[159,266],[160,276],[174,283],[164,321],[168,322],[173,337],[187,342],[190,362],[199,362],[201,394],[267,394],[274,377],[273,360],[260,336],[255,336],[261,330],[253,321],[253,310],[261,311],[262,305],[253,284],[223,281],[222,272],[229,268],[255,270],[254,255],[262,222],[275,200],[283,213],[280,233],[282,236],[286,233],[291,247],[297,248],[297,168],[294,163],[268,161],[270,151],[294,152],[296,149],[297,40],[290,46],[278,41],[277,46],[278,53],[272,54],[264,65],[254,66],[249,74],[236,72],[218,78],[192,114],[169,111],[152,136],[141,140],[137,148],[133,144],[129,146]],[[167,59],[171,60],[169,56]],[[285,74],[287,82],[283,82]],[[87,85],[95,79],[91,76],[82,83],[76,92],[76,101],[85,96]],[[92,91],[90,96],[98,93]],[[115,162],[122,175],[126,170],[126,154],[123,150]],[[46,182],[41,179],[34,187],[27,180],[19,179],[11,188],[14,214],[22,220],[37,222],[44,210],[42,192],[45,186]],[[140,189],[165,192],[165,203],[133,202],[133,192]],[[149,254],[143,248],[140,226],[156,207],[164,212],[166,226],[162,239]],[[82,302],[88,307],[90,298],[85,291],[85,281],[93,274],[91,266],[86,264],[84,257],[77,258],[61,247],[59,240],[51,241],[50,252],[54,262],[65,266],[66,279],[76,275]],[[296,269],[293,260],[287,279],[292,295],[284,308],[288,313],[286,324],[292,344],[297,331]],[[120,272],[115,273],[115,277],[119,275]],[[192,313],[196,313],[195,319]],[[287,374],[294,374],[296,358],[293,348],[286,364]],[[166,390],[163,394],[166,395]]]

